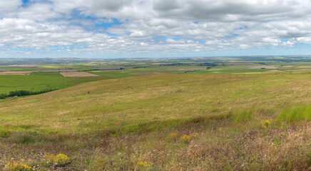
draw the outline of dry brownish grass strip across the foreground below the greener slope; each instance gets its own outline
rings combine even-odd
[[[255,128],[232,132],[231,123],[191,125],[162,133],[109,137],[92,135],[51,135],[35,145],[12,144],[1,139],[0,165],[14,160],[34,166],[46,153],[62,152],[73,161],[65,168],[51,170],[138,170],[138,162],[148,162],[153,170],[310,170],[311,124],[302,122],[289,128]],[[171,140],[169,133],[199,133],[190,143]],[[26,160],[25,160],[26,159]],[[41,164],[37,170],[46,168]]]

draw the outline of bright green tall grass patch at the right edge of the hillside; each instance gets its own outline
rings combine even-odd
[[[290,108],[285,108],[277,119],[287,122],[311,120],[311,105],[293,105]]]

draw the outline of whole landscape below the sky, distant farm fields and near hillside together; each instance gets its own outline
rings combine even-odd
[[[0,62],[3,167],[310,169],[310,57]]]

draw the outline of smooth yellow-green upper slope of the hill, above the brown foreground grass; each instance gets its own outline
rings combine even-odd
[[[232,110],[238,110],[234,120],[240,122],[252,118],[248,111],[253,106],[256,110],[273,108],[280,111],[285,103],[308,100],[308,86],[301,84],[305,79],[310,79],[307,74],[129,77],[86,83],[32,96],[27,98],[29,100],[9,101],[0,104],[0,108],[19,104],[19,111],[25,115],[10,108],[1,110],[0,114],[2,118],[10,119],[12,125],[18,126],[18,123],[27,120],[29,125],[39,125],[34,127],[36,130],[53,128],[62,132],[88,132],[98,128],[115,130],[113,124],[122,122],[126,123],[124,130],[131,132],[134,128],[137,130],[136,127],[140,128],[139,125],[160,126],[162,122],[175,119],[185,120],[177,123],[187,123],[186,120],[193,117],[209,117],[210,111],[213,115],[227,115]],[[292,84],[301,84],[295,94],[291,93],[295,89]],[[53,98],[46,98],[46,95]],[[215,111],[215,108],[219,110]],[[46,120],[47,115],[49,120]]]

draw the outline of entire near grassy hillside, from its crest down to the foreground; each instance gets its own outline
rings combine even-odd
[[[0,103],[0,164],[52,170],[43,156],[64,153],[66,170],[310,170],[310,83],[308,73],[171,74],[11,100]]]

